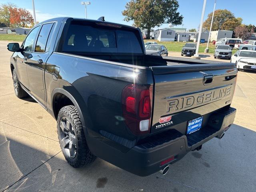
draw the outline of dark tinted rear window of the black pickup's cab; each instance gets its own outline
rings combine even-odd
[[[62,52],[142,53],[135,31],[96,24],[70,24]]]

